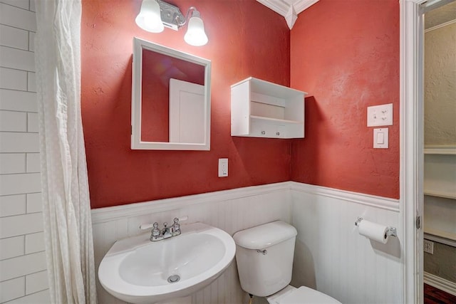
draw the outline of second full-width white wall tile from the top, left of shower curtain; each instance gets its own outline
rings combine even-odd
[[[4,68],[35,71],[35,53],[0,46],[0,65]]]

